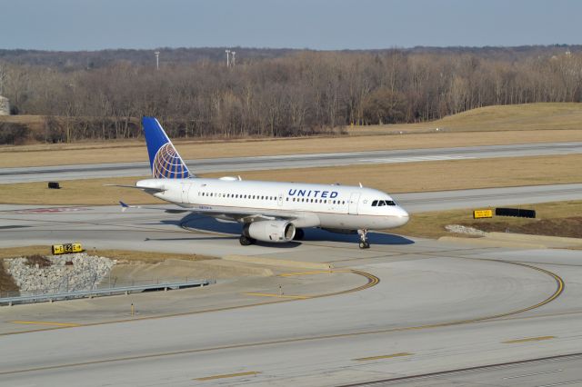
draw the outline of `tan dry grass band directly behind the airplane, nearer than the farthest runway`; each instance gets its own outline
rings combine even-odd
[[[241,175],[244,180],[280,182],[362,183],[388,193],[445,191],[468,188],[582,182],[582,154],[475,159],[403,164],[352,165],[271,171],[205,174],[206,177]],[[195,170],[196,171],[196,170]],[[141,178],[146,178],[143,176]],[[116,204],[163,203],[140,191],[105,184],[135,184],[140,177],[86,179],[62,182],[60,190],[46,183],[4,184],[0,203],[21,204]]]

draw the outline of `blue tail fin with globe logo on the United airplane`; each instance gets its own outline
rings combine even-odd
[[[152,176],[155,179],[186,179],[195,177],[190,174],[188,167],[174,144],[167,137],[162,125],[154,117],[143,117],[142,126],[146,136],[147,153]]]

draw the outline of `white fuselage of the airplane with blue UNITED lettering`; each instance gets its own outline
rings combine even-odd
[[[359,186],[241,181],[236,178],[146,179],[138,187],[163,189],[154,196],[219,219],[225,213],[294,217],[296,227],[379,230],[408,222],[408,213],[381,191]],[[375,203],[376,201],[376,203]],[[382,205],[377,205],[381,203]],[[373,205],[374,204],[374,205]]]

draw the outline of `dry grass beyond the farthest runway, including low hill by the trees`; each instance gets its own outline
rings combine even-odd
[[[582,104],[489,106],[426,124],[354,126],[348,135],[176,141],[185,159],[582,141]],[[436,128],[439,132],[436,132]],[[398,132],[405,134],[394,134]],[[476,133],[478,132],[478,133]],[[0,167],[146,161],[142,141],[0,147]],[[196,170],[196,165],[192,165]]]

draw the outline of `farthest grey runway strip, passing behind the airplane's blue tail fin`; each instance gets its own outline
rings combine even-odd
[[[355,164],[416,163],[580,153],[582,153],[582,143],[547,143],[333,154],[232,157],[186,160],[186,164],[188,164],[189,168],[196,174],[206,174],[211,172],[228,171],[255,171]],[[146,152],[144,152],[144,158],[146,159]],[[92,179],[101,177],[146,176],[149,174],[149,164],[146,161],[140,163],[75,164],[3,168],[0,170],[0,184],[44,182],[49,180]]]

